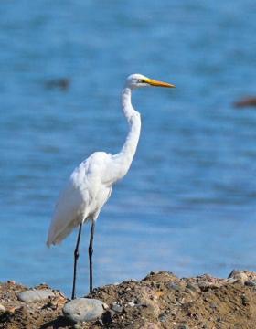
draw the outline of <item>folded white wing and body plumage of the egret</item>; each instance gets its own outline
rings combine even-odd
[[[110,154],[91,154],[70,175],[67,186],[59,195],[48,230],[48,246],[61,242],[73,228],[101,209],[110,193],[102,183],[109,160]]]

